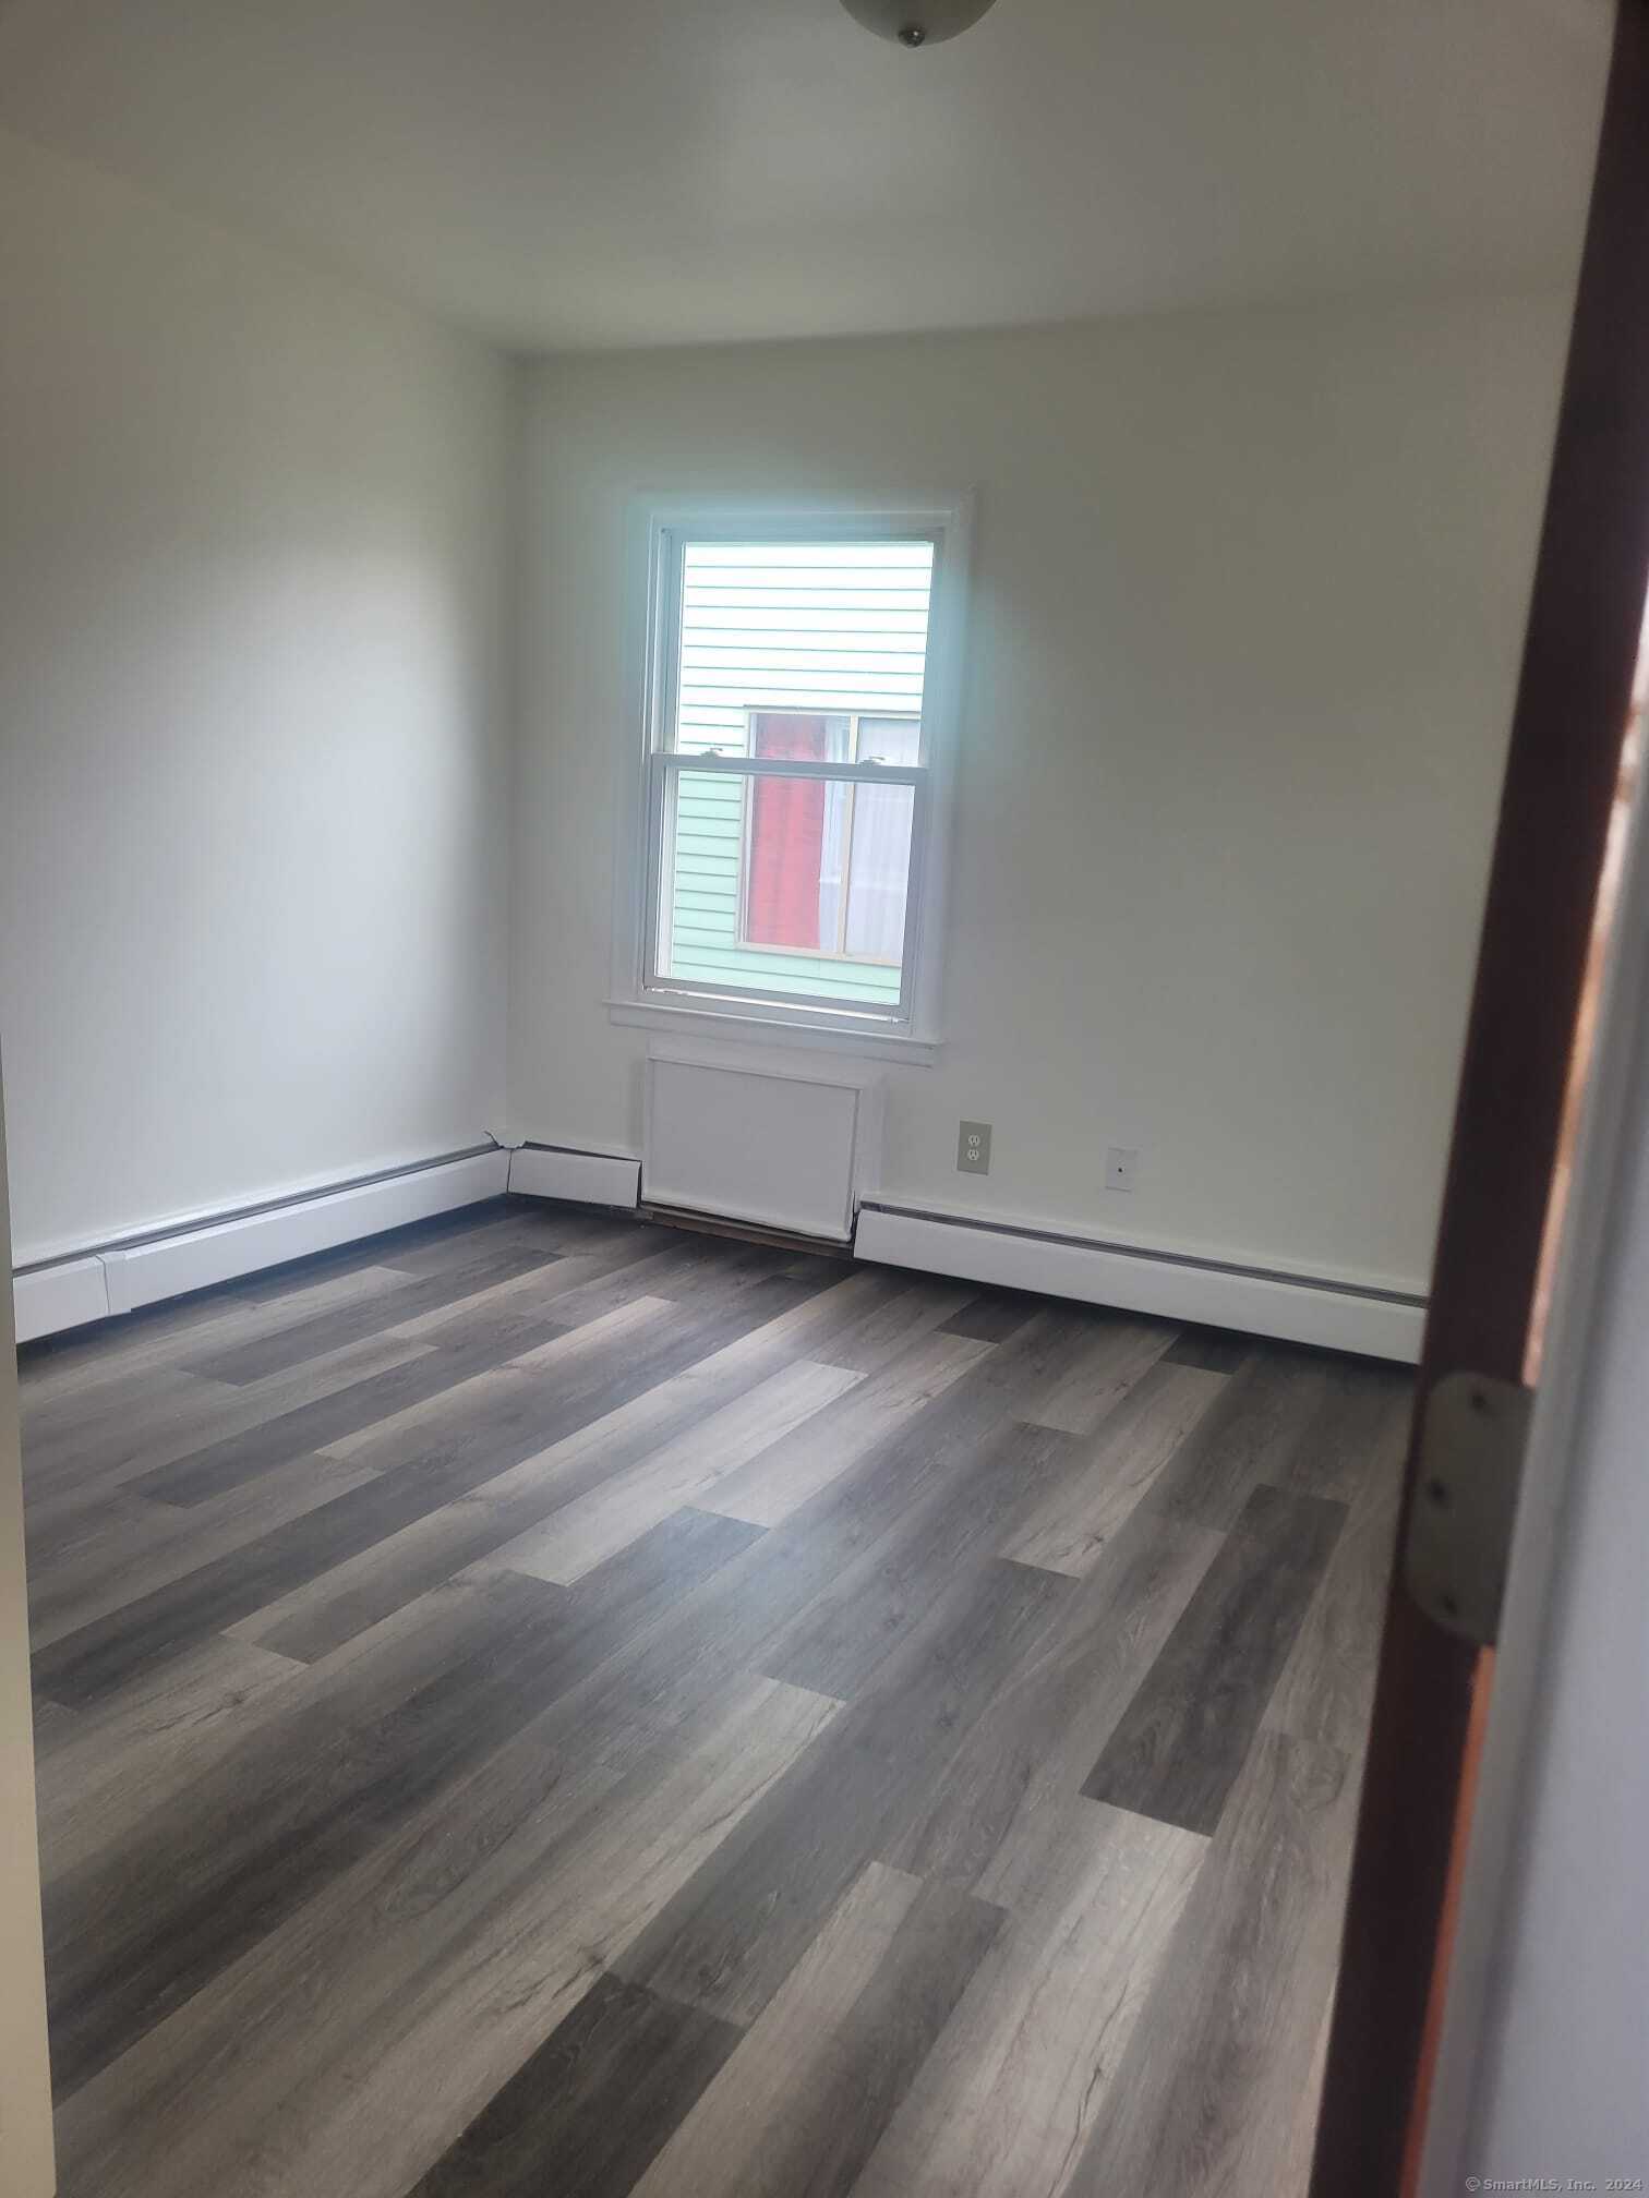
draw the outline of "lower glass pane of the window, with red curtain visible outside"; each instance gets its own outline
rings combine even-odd
[[[657,974],[899,1004],[910,787],[673,771]]]

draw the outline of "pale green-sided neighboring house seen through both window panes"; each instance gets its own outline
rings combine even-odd
[[[677,745],[917,763],[928,543],[693,543]],[[846,1002],[899,998],[910,787],[682,774],[660,967]]]

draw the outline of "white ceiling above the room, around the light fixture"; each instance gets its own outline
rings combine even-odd
[[[0,0],[0,123],[514,345],[1568,277],[1607,0]]]

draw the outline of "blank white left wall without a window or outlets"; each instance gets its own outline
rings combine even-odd
[[[20,1262],[479,1139],[510,369],[0,136]]]

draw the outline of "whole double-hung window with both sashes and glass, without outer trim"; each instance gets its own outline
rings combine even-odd
[[[629,1002],[932,1042],[954,514],[655,525]]]

